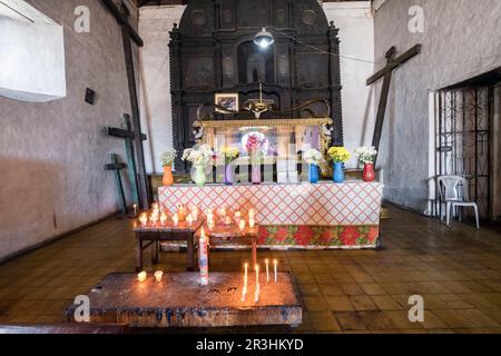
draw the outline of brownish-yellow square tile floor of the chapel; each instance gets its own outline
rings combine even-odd
[[[297,278],[304,323],[294,332],[501,333],[499,230],[449,229],[397,209],[391,216],[380,251],[259,253]],[[212,268],[232,271],[249,253],[212,257]],[[158,268],[167,271],[186,266],[185,254],[163,254],[161,260]],[[130,221],[108,220],[1,265],[0,323],[63,322],[72,298],[112,271],[134,271]],[[424,297],[423,324],[409,322],[411,295]]]

